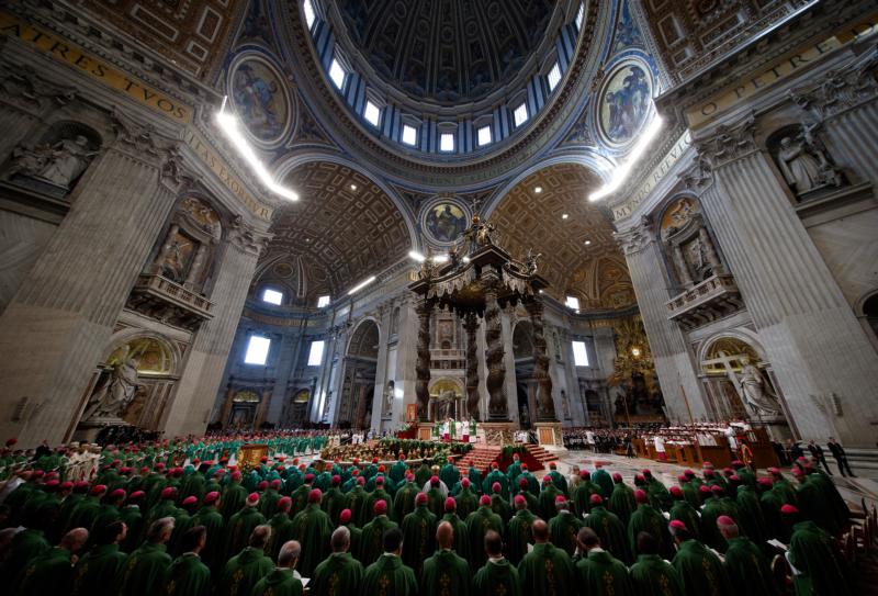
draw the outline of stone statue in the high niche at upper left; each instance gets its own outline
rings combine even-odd
[[[12,153],[12,166],[7,178],[22,175],[69,190],[95,155],[98,151],[91,150],[85,135],[61,138],[54,145],[18,147]]]

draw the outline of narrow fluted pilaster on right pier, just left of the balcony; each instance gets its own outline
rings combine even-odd
[[[679,326],[667,318],[667,301],[673,296],[664,274],[664,263],[649,225],[641,223],[619,234],[655,372],[668,416],[688,423],[707,415],[701,385],[696,375],[694,355]]]

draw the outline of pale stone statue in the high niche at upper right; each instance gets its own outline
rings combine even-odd
[[[842,177],[826,158],[824,147],[814,138],[812,131],[817,124],[802,126],[802,133],[795,139],[785,136],[777,151],[778,167],[787,184],[797,196],[822,187],[842,185]]]

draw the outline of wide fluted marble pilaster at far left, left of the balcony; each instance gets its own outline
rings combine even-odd
[[[0,318],[0,436],[68,439],[94,367],[179,189],[171,143],[135,125],[90,165]],[[216,397],[214,387],[211,400]]]

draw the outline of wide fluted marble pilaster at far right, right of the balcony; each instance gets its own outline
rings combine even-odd
[[[878,355],[799,220],[755,124],[699,144],[711,160],[701,202],[804,438],[870,446]],[[734,140],[735,150],[717,150]],[[711,183],[712,182],[712,183]],[[833,413],[833,396],[841,414]]]

